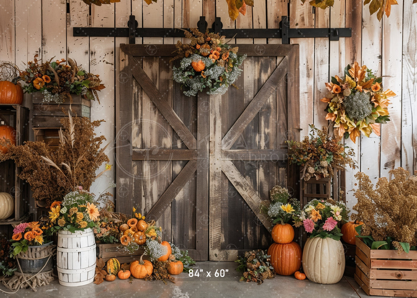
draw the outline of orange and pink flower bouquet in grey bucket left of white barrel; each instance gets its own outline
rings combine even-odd
[[[22,222],[13,230],[10,258],[25,253],[29,246],[43,245],[49,235],[48,227],[41,226],[39,222]]]

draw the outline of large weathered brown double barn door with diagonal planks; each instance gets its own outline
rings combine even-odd
[[[299,135],[298,45],[239,45],[239,89],[196,97],[172,80],[173,45],[120,48],[117,210],[138,206],[196,260],[266,247],[259,202],[295,185],[285,141]]]

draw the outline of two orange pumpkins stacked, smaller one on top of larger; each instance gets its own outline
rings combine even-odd
[[[301,247],[294,242],[294,228],[285,223],[272,229],[274,243],[268,249],[271,264],[279,275],[293,275],[301,268]]]

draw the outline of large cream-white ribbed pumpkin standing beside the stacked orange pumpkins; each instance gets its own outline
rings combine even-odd
[[[337,283],[344,272],[344,249],[340,240],[308,238],[303,251],[303,269],[314,283]]]

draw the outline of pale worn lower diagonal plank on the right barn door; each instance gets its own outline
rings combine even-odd
[[[221,170],[226,174],[229,181],[233,184],[239,194],[244,198],[246,203],[255,213],[256,217],[262,222],[262,224],[268,229],[269,232],[272,230],[271,222],[266,216],[261,214],[259,210],[259,204],[261,199],[258,197],[253,187],[249,182],[242,176],[235,165],[230,160],[223,160]]]

